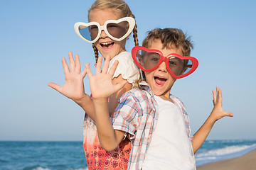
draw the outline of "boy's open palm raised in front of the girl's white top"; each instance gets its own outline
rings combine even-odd
[[[102,57],[99,57],[97,61],[97,67],[95,71],[95,76],[93,76],[90,70],[90,64],[85,65],[85,69],[90,81],[90,90],[92,93],[93,99],[108,98],[115,92],[122,89],[122,87],[127,83],[127,80],[121,81],[118,84],[112,84],[112,77],[114,71],[117,69],[118,61],[115,61],[113,66],[110,69],[110,72],[107,73],[108,67],[110,65],[110,57],[106,57],[105,63],[103,65],[102,71]]]

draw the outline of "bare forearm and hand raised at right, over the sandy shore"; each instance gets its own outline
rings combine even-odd
[[[233,117],[233,113],[223,111],[221,90],[217,87],[216,91],[217,96],[215,91],[213,91],[213,111],[210,113],[209,117],[206,119],[206,122],[203,123],[201,128],[199,128],[199,130],[193,135],[194,140],[192,147],[194,153],[196,153],[201,145],[203,145],[203,142],[206,140],[206,137],[217,120],[225,116]]]

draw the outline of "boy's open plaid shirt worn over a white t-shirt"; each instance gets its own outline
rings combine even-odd
[[[141,89],[132,89],[119,98],[118,106],[111,116],[113,128],[127,132],[127,137],[132,142],[128,169],[142,168],[159,113],[154,93],[149,85],[146,82],[140,85]],[[170,98],[181,108],[188,137],[193,141],[193,137],[190,137],[188,114],[183,103],[171,94]]]

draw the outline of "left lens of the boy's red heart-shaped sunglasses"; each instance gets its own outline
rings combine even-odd
[[[160,55],[156,52],[146,52],[144,50],[137,52],[137,62],[146,70],[155,67],[159,63],[159,60]]]

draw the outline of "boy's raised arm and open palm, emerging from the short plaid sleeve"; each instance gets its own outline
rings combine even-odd
[[[97,126],[97,133],[100,140],[100,145],[103,149],[111,151],[119,145],[124,138],[124,132],[114,130],[110,121],[109,108],[107,98],[116,93],[127,84],[127,81],[121,81],[117,84],[113,84],[112,76],[117,68],[118,61],[115,61],[110,72],[107,73],[107,69],[110,64],[110,57],[107,57],[105,64],[102,65],[102,57],[99,57],[96,67],[95,76],[93,76],[89,63],[85,68],[90,81],[90,90],[93,96],[93,105],[95,108],[95,123]]]

